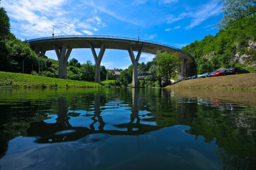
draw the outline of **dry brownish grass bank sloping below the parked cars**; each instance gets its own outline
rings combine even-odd
[[[256,89],[256,73],[184,80],[166,88]]]

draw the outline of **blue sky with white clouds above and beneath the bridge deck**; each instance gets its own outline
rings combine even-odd
[[[61,35],[106,35],[138,38],[181,48],[215,35],[222,14],[220,0],[2,0],[11,32],[21,40]],[[95,49],[97,54],[99,49]],[[134,52],[136,55],[136,52]],[[56,59],[54,50],[48,58]],[[91,49],[73,49],[70,58],[94,62]],[[139,62],[154,55],[142,53]],[[126,50],[106,49],[101,61],[108,69],[131,65]]]

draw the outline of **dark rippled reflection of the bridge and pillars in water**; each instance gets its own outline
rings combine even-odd
[[[95,95],[94,116],[91,120],[90,128],[73,127],[70,123],[70,117],[67,116],[67,101],[64,99],[58,100],[58,117],[55,123],[46,123],[44,121],[33,122],[30,128],[27,129],[28,136],[37,136],[38,143],[55,143],[67,141],[80,141],[84,143],[94,143],[106,140],[109,136],[115,135],[142,135],[151,131],[156,131],[162,126],[141,124],[138,114],[138,89],[132,89],[133,107],[130,115],[130,122],[113,125],[116,129],[104,130],[105,122],[101,116],[100,110],[100,93]],[[134,121],[136,122],[134,123]],[[149,120],[155,121],[155,119]],[[99,123],[98,130],[95,130],[94,124]],[[126,128],[127,131],[118,129]]]

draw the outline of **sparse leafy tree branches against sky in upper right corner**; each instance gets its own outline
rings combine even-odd
[[[223,7],[221,8],[223,18],[217,24],[219,29],[222,29],[230,24],[233,24],[240,18],[256,13],[255,0],[221,0]]]

